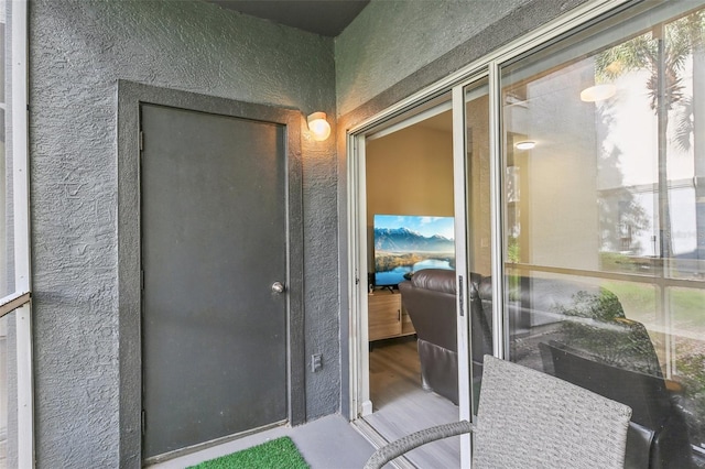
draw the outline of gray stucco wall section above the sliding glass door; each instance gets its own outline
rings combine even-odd
[[[337,108],[357,108],[530,0],[372,0],[335,40]]]

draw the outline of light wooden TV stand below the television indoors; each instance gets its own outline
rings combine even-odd
[[[409,314],[402,307],[399,291],[376,290],[367,295],[369,340],[389,339],[415,334]]]

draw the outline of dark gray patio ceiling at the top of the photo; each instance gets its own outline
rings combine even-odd
[[[240,13],[335,37],[370,0],[206,0]]]

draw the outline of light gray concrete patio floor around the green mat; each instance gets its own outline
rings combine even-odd
[[[328,415],[293,428],[272,428],[149,468],[184,469],[281,436],[290,436],[294,440],[312,469],[359,469],[375,451],[372,445],[346,418]]]

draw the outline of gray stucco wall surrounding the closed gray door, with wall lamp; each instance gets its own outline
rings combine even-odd
[[[118,467],[117,80],[335,114],[333,41],[202,1],[30,3],[37,467]],[[307,416],[339,408],[335,144],[302,137]],[[137,216],[137,214],[135,214]]]

